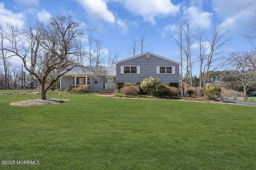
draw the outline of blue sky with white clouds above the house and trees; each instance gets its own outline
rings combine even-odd
[[[18,25],[29,21],[47,21],[54,14],[70,14],[86,25],[96,25],[93,36],[106,50],[119,51],[120,60],[132,57],[128,52],[132,38],[145,33],[144,52],[179,61],[179,48],[170,35],[180,18],[188,14],[194,29],[201,27],[209,34],[214,26],[229,30],[225,38],[232,41],[225,51],[242,51],[248,42],[242,34],[255,26],[255,0],[0,0],[0,19]],[[193,46],[193,74],[197,49]],[[140,54],[138,50],[137,54]]]

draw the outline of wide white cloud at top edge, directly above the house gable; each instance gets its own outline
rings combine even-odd
[[[170,0],[120,0],[126,10],[132,15],[142,16],[144,21],[156,25],[157,16],[176,15],[180,6],[172,4]]]

